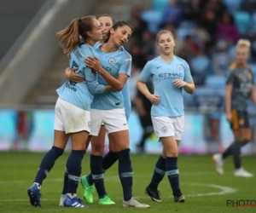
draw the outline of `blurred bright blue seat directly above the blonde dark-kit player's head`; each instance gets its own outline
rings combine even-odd
[[[245,11],[236,12],[234,14],[234,18],[235,18],[238,32],[240,32],[242,35],[245,34],[251,23],[250,14]]]

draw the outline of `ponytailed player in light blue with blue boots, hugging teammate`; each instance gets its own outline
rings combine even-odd
[[[55,160],[61,156],[68,137],[72,140],[72,153],[67,159],[67,198],[64,205],[67,207],[84,208],[77,198],[77,187],[81,174],[81,163],[84,158],[86,140],[90,133],[90,104],[92,94],[108,92],[110,86],[100,85],[96,80],[96,72],[85,66],[84,58],[96,57],[93,46],[102,37],[101,26],[94,16],[85,16],[75,19],[66,29],[58,32],[61,47],[64,53],[70,55],[70,67],[78,67],[79,74],[86,78],[86,82],[74,83],[67,81],[57,89],[59,98],[55,105],[55,139],[51,150],[44,156],[35,178],[35,181],[27,190],[30,202],[33,206],[41,206],[40,188],[55,164]],[[80,43],[83,37],[85,43]]]

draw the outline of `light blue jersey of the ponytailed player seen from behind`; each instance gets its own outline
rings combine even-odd
[[[70,55],[69,66],[70,68],[78,67],[76,73],[83,76],[86,81],[75,83],[67,80],[56,90],[61,99],[87,111],[90,111],[94,94],[101,94],[106,89],[104,85],[98,83],[96,72],[92,72],[90,67],[85,65],[84,58],[89,56],[97,57],[96,51],[87,43],[73,50]]]

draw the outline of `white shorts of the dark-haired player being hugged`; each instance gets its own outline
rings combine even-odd
[[[123,130],[129,130],[125,116],[125,108],[113,110],[90,110],[90,135],[97,136],[104,124],[108,134]]]

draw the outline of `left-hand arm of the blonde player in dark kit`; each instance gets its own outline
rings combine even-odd
[[[225,112],[226,112],[226,118],[228,121],[231,121],[232,119],[232,113],[231,113],[231,95],[233,90],[233,83],[234,83],[234,72],[228,71],[228,78],[226,81],[226,88],[225,88]]]

